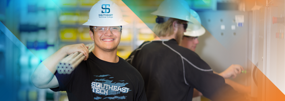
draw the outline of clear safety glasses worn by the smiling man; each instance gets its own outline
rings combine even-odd
[[[95,32],[100,32],[100,33],[105,33],[107,32],[108,29],[111,30],[111,32],[121,32],[121,26],[112,26],[112,27],[98,27],[95,26],[94,28],[92,28],[92,30],[95,29]]]

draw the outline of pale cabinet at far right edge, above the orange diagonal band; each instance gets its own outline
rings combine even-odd
[[[258,65],[256,65],[281,92],[285,92],[285,26],[273,18],[285,14],[285,2],[260,9]],[[284,17],[283,17],[284,18]]]

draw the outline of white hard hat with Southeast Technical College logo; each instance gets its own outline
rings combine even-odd
[[[124,21],[120,7],[111,0],[100,0],[92,6],[89,19],[82,25],[89,26],[122,26]]]

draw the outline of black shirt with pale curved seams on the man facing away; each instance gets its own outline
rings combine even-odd
[[[198,54],[175,39],[144,42],[126,61],[143,76],[148,101],[191,101],[193,88],[213,101],[244,101]]]

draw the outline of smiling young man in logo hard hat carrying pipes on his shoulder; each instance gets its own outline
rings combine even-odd
[[[36,68],[32,83],[37,88],[66,91],[69,101],[146,101],[142,76],[116,55],[121,28],[125,24],[119,6],[110,0],[99,1],[91,8],[89,20],[83,24],[89,25],[94,50],[88,54],[88,47],[84,44],[62,47]],[[77,51],[86,56],[85,61],[71,74],[57,73],[56,64],[67,54]]]

